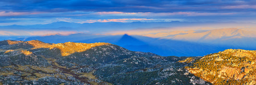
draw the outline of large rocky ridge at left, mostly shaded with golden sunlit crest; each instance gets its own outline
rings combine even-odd
[[[32,47],[27,47],[27,49],[1,49],[10,46],[20,48],[19,44],[28,42],[33,46],[31,45]],[[127,80],[127,77],[136,76],[137,74],[141,75],[139,78],[134,78],[138,81],[138,84],[155,84],[161,79],[179,75],[175,73],[175,75],[166,76],[164,74],[169,74],[168,71],[170,71],[166,67],[172,65],[172,67],[176,67],[175,64],[169,61],[176,62],[184,59],[184,57],[162,57],[153,53],[129,51],[114,44],[99,45],[82,52],[61,55],[62,47],[75,51],[71,48],[81,46],[84,49],[91,45],[83,47],[86,43],[66,42],[51,44],[40,41],[28,42],[2,45],[0,47],[1,84],[125,84],[125,82],[120,81]],[[61,48],[54,46],[60,46]],[[166,69],[162,69],[162,66]],[[178,64],[177,67],[179,67]],[[161,72],[161,69],[165,71]],[[176,71],[176,68],[171,69]],[[173,70],[172,72],[175,71]],[[144,74],[151,73],[160,75],[148,76],[147,79],[144,79]],[[119,74],[126,77],[117,78]],[[156,81],[155,79],[158,80]],[[191,78],[182,74],[182,77],[179,77],[178,81],[173,82],[173,84],[190,84],[189,82],[179,82],[180,79],[188,81]],[[153,80],[155,82],[149,82]],[[200,79],[193,78],[193,80],[199,81]],[[159,84],[167,84],[167,82],[162,81]],[[131,82],[131,84],[135,83]],[[202,84],[205,83],[202,82]]]

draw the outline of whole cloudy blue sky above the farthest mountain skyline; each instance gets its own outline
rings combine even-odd
[[[0,26],[93,22],[256,22],[256,0],[0,0]]]

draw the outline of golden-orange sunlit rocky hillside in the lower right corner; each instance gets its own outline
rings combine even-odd
[[[256,51],[228,49],[195,60],[187,70],[213,84],[256,84]]]

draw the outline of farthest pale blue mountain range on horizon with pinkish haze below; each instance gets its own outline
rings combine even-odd
[[[222,27],[225,24],[226,27]],[[10,25],[10,26],[0,26],[0,36],[34,36],[34,35],[44,35],[41,34],[45,31],[45,34],[52,31],[62,32],[89,32],[89,33],[118,33],[122,32],[133,34],[130,31],[135,32],[171,32],[179,31],[177,29],[191,28],[190,30],[200,30],[200,28],[232,28],[238,26],[249,26],[255,27],[254,23],[237,23],[237,22],[94,22],[94,23],[73,23],[73,22],[53,22],[49,24],[36,24],[36,25]],[[199,26],[199,27],[198,27]],[[193,29],[192,29],[193,28]],[[196,29],[194,29],[196,28]],[[150,30],[149,30],[150,29]],[[154,30],[154,31],[151,31]],[[39,33],[39,32],[40,33]],[[184,29],[182,30],[184,31]],[[186,30],[185,30],[186,31]],[[143,33],[144,34],[144,33]],[[172,36],[171,34],[170,36]],[[168,36],[165,36],[168,37]]]

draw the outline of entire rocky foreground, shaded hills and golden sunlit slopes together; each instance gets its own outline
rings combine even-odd
[[[255,51],[159,56],[110,43],[0,42],[0,85],[255,85]]]

